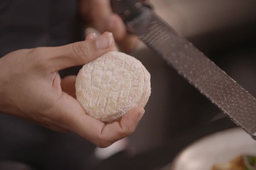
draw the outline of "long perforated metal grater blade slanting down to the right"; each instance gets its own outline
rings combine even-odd
[[[150,9],[143,10],[127,23],[129,31],[256,139],[256,99]]]

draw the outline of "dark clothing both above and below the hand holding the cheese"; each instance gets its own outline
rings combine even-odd
[[[0,57],[22,48],[82,40],[77,8],[76,0],[0,0]],[[93,149],[73,133],[0,114],[0,162],[23,162],[37,170],[80,170],[88,167]]]

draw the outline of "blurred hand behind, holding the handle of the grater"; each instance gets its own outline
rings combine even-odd
[[[128,34],[122,19],[117,14],[113,14],[110,0],[80,0],[79,11],[82,18],[93,28],[100,32],[113,32],[122,51],[135,50],[138,38],[133,34]]]

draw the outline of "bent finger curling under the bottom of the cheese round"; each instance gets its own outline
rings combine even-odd
[[[136,129],[144,114],[143,108],[133,108],[128,111],[120,122],[105,125],[97,119],[88,116],[76,99],[62,99],[59,111],[64,114],[64,128],[79,134],[99,147],[107,147],[113,142],[130,135]]]

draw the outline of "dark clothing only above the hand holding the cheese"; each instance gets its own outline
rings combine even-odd
[[[82,39],[77,0],[0,0],[0,57]]]

